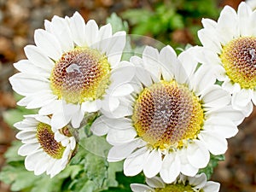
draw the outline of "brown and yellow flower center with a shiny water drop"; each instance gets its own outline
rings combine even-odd
[[[50,76],[51,89],[59,99],[82,103],[101,98],[108,88],[108,58],[96,49],[76,48],[56,61]]]

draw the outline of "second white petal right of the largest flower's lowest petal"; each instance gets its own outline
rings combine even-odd
[[[187,154],[189,163],[195,168],[206,167],[210,160],[210,153],[204,143],[196,139],[193,140],[193,143],[189,143]]]

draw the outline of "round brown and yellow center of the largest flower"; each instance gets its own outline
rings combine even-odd
[[[204,113],[199,98],[172,80],[145,88],[131,119],[138,136],[154,148],[181,148],[197,137]]]

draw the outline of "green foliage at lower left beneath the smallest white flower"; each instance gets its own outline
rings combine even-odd
[[[83,144],[90,143],[93,139],[83,140]],[[96,143],[101,143],[101,141],[105,143],[104,139],[96,139]],[[3,166],[0,172],[0,181],[10,184],[12,191],[90,192],[118,187],[115,173],[122,172],[122,163],[120,162],[108,163],[106,157],[92,154],[80,145],[78,153],[60,174],[53,178],[45,174],[35,176],[33,172],[26,171],[24,157],[17,153],[21,144],[15,141],[9,148],[5,154],[7,165]],[[96,152],[105,154],[105,147],[102,147],[102,150]]]

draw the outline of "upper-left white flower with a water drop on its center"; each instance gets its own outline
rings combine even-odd
[[[52,114],[55,128],[70,121],[78,128],[84,113],[112,111],[119,96],[131,93],[126,83],[134,69],[119,65],[125,32],[112,34],[110,24],[99,28],[95,20],[85,24],[79,13],[65,19],[54,16],[44,26],[35,31],[36,46],[25,47],[27,60],[15,63],[20,73],[9,79],[25,96],[20,106]]]

